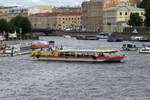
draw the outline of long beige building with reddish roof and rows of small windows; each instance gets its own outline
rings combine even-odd
[[[80,13],[39,13],[29,17],[33,29],[76,30],[81,24]]]

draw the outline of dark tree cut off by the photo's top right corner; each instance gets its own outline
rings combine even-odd
[[[140,8],[145,9],[145,25],[150,26],[150,0],[142,0],[142,2],[139,5]]]

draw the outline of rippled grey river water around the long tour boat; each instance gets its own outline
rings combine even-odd
[[[72,48],[119,49],[123,44],[42,39]],[[150,55],[127,55],[124,63],[38,62],[29,55],[1,57],[0,100],[150,100]]]

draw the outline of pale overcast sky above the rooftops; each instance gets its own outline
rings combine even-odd
[[[0,0],[1,5],[52,5],[52,6],[79,6],[83,1],[88,0]]]

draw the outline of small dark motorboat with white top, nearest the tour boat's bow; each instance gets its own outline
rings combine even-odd
[[[122,50],[124,50],[124,51],[137,51],[138,48],[135,44],[126,43],[126,44],[122,45]]]

